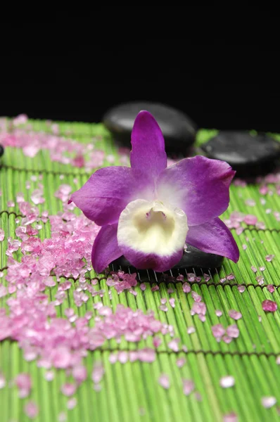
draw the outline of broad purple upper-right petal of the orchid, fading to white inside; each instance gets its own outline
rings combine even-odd
[[[224,161],[202,155],[184,158],[158,177],[158,199],[184,210],[189,226],[203,224],[227,210],[234,174]]]

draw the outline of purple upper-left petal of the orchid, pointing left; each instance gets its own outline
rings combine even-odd
[[[154,196],[153,181],[148,174],[129,167],[103,167],[91,175],[79,191],[72,194],[84,215],[98,226],[117,222],[127,203]]]

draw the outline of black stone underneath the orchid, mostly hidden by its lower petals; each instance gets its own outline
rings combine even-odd
[[[222,266],[222,262],[224,257],[220,255],[215,255],[212,253],[202,252],[201,250],[194,248],[194,246],[188,245],[182,257],[182,260],[178,262],[177,265],[174,265],[172,269],[215,269]],[[128,267],[132,267],[132,265],[125,259],[124,256],[118,258],[117,260],[111,263],[113,265],[113,269],[127,269]],[[133,267],[132,267],[133,268]]]

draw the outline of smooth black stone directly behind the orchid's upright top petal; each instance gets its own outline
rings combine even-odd
[[[149,111],[158,122],[165,138],[167,153],[186,154],[196,138],[196,124],[170,106],[160,103],[132,102],[110,108],[103,117],[103,123],[112,132],[115,141],[130,147],[132,127],[141,110]]]

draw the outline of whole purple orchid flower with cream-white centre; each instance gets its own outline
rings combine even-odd
[[[73,201],[101,226],[92,248],[99,273],[121,255],[138,269],[167,271],[187,242],[237,262],[238,247],[218,218],[229,206],[235,172],[224,161],[201,155],[167,167],[163,134],[148,111],[132,129],[131,167],[103,167]]]

